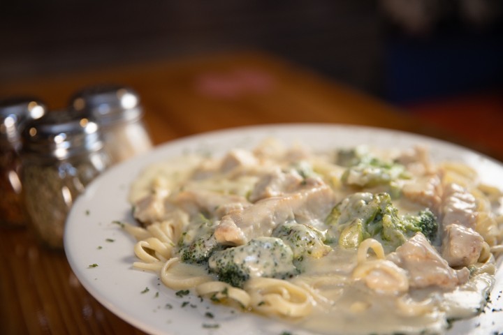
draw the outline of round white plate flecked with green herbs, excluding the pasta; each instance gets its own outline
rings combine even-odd
[[[64,246],[68,262],[82,285],[106,308],[151,334],[307,334],[251,313],[177,297],[150,272],[132,268],[134,241],[113,221],[128,221],[129,184],[146,165],[187,152],[223,154],[233,147],[254,147],[265,137],[284,142],[302,141],[315,149],[371,144],[375,147],[408,148],[425,144],[435,161],[463,161],[481,174],[483,181],[503,189],[503,165],[454,144],[398,131],[359,126],[289,124],[235,128],[182,138],[157,147],[143,156],[111,168],[87,188],[75,202],[66,223]],[[90,265],[97,265],[90,267]],[[449,334],[500,334],[503,329],[503,271],[486,313],[454,322]],[[207,315],[210,312],[214,318]],[[216,327],[218,325],[218,327]]]

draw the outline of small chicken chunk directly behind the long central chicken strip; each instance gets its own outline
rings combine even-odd
[[[264,198],[279,197],[291,193],[302,184],[303,178],[296,171],[282,172],[280,168],[264,174],[258,179],[254,190],[249,195],[251,202]]]

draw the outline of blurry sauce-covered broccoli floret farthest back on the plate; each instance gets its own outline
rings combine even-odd
[[[376,158],[363,147],[338,151],[337,164],[347,168],[341,177],[347,186],[373,187],[409,178],[404,165]]]

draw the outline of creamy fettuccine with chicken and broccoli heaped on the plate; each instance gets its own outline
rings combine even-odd
[[[134,267],[317,334],[438,334],[486,306],[502,193],[428,150],[265,140],[148,166]]]

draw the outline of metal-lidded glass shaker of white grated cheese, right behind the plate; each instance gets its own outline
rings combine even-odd
[[[71,99],[71,108],[99,124],[112,163],[119,163],[152,148],[143,122],[143,107],[136,91],[119,85],[82,89]]]

